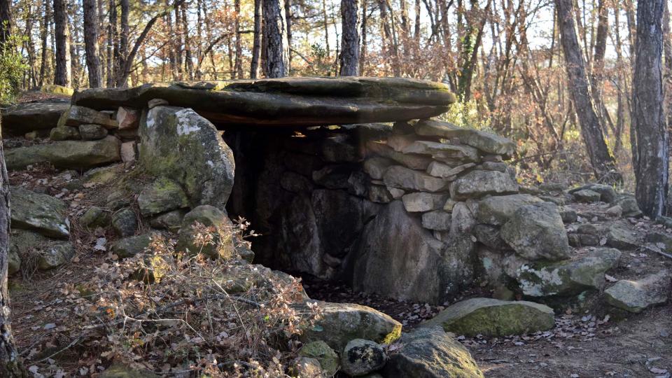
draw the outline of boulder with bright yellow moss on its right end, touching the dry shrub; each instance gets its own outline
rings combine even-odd
[[[350,303],[316,302],[322,318],[301,335],[304,342],[322,340],[342,351],[352,339],[390,344],[401,335],[401,323],[371,307]]]

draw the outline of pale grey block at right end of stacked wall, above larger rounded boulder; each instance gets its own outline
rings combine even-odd
[[[514,193],[518,193],[518,183],[497,171],[472,171],[450,183],[450,197],[456,201]]]

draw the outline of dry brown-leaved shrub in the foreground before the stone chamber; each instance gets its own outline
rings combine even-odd
[[[228,241],[248,247],[246,227],[237,223]],[[221,239],[197,228],[202,245]],[[97,335],[86,344],[102,360],[139,370],[284,376],[297,335],[319,316],[317,307],[296,305],[304,298],[296,279],[236,256],[209,260],[176,252],[174,241],[163,238],[145,253],[97,267],[96,276],[100,294],[78,338]]]

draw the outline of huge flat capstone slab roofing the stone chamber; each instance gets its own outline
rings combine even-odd
[[[151,99],[191,108],[215,123],[335,125],[429,118],[455,102],[447,85],[408,78],[278,78],[154,83],[73,95],[93,109],[144,107]]]

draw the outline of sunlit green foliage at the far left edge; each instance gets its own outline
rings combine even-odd
[[[10,36],[0,45],[0,102],[14,102],[19,92],[23,73],[28,69],[23,57],[18,52],[23,38]]]

